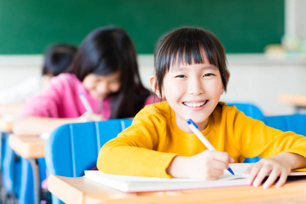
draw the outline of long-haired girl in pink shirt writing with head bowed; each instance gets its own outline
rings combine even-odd
[[[90,32],[69,72],[53,77],[42,94],[27,100],[14,133],[40,134],[64,123],[133,117],[153,102],[141,84],[135,48],[121,28],[100,27]],[[92,113],[86,111],[79,92]]]

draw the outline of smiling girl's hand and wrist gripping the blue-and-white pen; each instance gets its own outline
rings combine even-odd
[[[167,168],[174,177],[187,177],[200,180],[214,180],[228,168],[234,159],[228,153],[216,150],[205,150],[193,156],[176,156]]]

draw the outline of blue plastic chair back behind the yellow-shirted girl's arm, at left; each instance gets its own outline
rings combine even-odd
[[[49,174],[77,177],[96,165],[102,145],[131,124],[131,119],[64,124],[56,128],[44,147]],[[52,203],[62,203],[52,195]]]

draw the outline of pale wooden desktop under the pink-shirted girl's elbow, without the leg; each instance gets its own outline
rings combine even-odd
[[[8,137],[10,147],[24,158],[44,157],[45,140],[39,136],[19,136],[10,134]]]

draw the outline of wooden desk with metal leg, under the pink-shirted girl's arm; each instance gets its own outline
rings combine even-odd
[[[36,158],[44,157],[45,140],[39,136],[22,136],[10,134],[8,137],[10,147],[21,157],[28,160],[32,167],[34,183],[34,203],[40,202],[39,167]],[[21,183],[22,185],[23,183]]]

